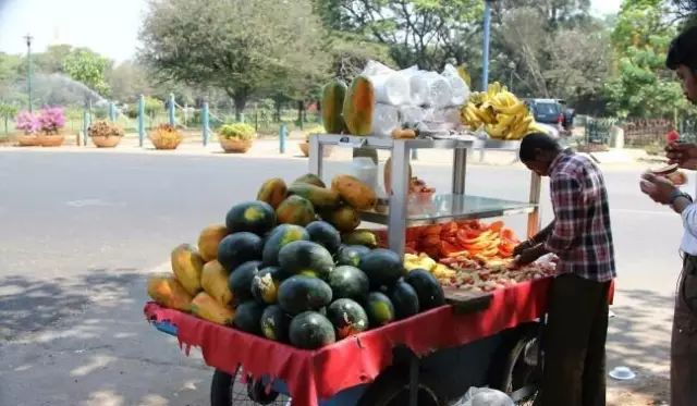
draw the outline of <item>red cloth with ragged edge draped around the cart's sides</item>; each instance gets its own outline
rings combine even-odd
[[[316,406],[340,391],[372,381],[392,362],[392,348],[408,346],[421,356],[497,334],[540,317],[547,308],[551,279],[496,291],[488,309],[456,315],[443,306],[406,320],[370,330],[317,350],[303,350],[218,325],[194,316],[145,305],[148,320],[169,321],[179,330],[186,354],[200,347],[206,364],[234,372],[242,365],[255,377],[283,380],[295,406]]]

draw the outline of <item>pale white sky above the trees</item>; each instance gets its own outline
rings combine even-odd
[[[196,0],[192,0],[196,1]],[[616,13],[622,0],[591,0],[596,15]],[[0,51],[26,52],[51,44],[89,47],[115,61],[135,56],[147,0],[0,0]]]

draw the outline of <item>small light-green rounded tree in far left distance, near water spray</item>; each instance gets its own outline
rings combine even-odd
[[[109,93],[109,85],[105,81],[105,73],[109,66],[108,59],[87,48],[74,49],[63,61],[63,71],[73,81],[105,96]]]

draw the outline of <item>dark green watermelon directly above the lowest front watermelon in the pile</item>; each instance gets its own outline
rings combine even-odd
[[[283,310],[297,315],[329,305],[332,292],[327,282],[321,279],[296,275],[281,282],[278,298]]]

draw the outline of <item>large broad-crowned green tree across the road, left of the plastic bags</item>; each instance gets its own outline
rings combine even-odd
[[[223,89],[240,119],[252,96],[325,75],[323,35],[309,0],[151,0],[139,57],[162,77]]]

